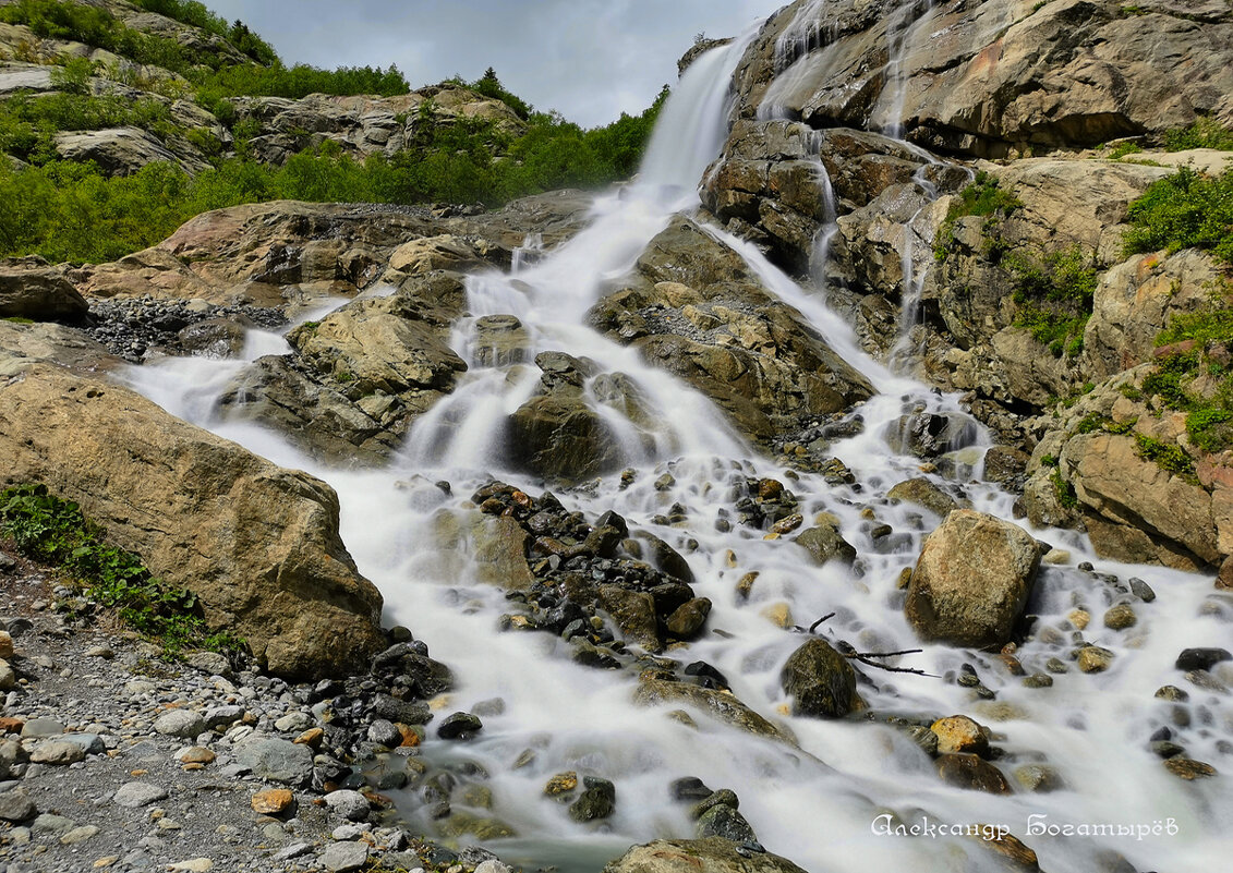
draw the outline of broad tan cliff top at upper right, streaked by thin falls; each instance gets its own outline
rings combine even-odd
[[[737,112],[761,107],[816,128],[901,128],[935,150],[981,157],[1090,146],[1198,116],[1233,123],[1227,4],[1126,9],[1116,0],[798,0],[747,51]]]

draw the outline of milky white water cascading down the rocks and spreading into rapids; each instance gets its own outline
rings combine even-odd
[[[1047,871],[1100,871],[1099,856],[1116,851],[1139,869],[1221,869],[1233,841],[1228,816],[1233,788],[1221,776],[1182,783],[1149,751],[1149,737],[1171,726],[1189,753],[1233,768],[1233,708],[1216,692],[1190,689],[1190,702],[1174,704],[1153,697],[1168,683],[1184,684],[1173,668],[1178,651],[1190,645],[1227,644],[1233,603],[1217,596],[1211,578],[1154,567],[1128,567],[1095,559],[1086,540],[1070,531],[1038,530],[1038,538],[1067,549],[1068,566],[1042,570],[1032,610],[1038,633],[1018,656],[1028,672],[1043,670],[1049,657],[1067,658],[1073,647],[1065,615],[1075,605],[1097,617],[1117,592],[1100,576],[1078,570],[1090,560],[1102,572],[1124,580],[1148,580],[1159,598],[1138,605],[1141,621],[1113,634],[1096,628],[1086,634],[1115,651],[1113,667],[1099,676],[1075,668],[1054,677],[1052,688],[1030,689],[1007,676],[995,658],[974,651],[926,646],[899,663],[938,678],[867,671],[875,684],[862,695],[874,713],[909,716],[969,714],[990,725],[1005,750],[1004,771],[1047,762],[1065,787],[1049,794],[1016,792],[994,797],[964,792],[938,781],[930,758],[900,730],[863,720],[820,721],[780,715],[784,698],[778,673],[803,636],[764,615],[772,604],[787,604],[797,624],[835,613],[821,626],[832,639],[858,650],[915,649],[916,637],[903,615],[900,572],[914,564],[924,535],[937,519],[906,504],[883,499],[896,482],[920,476],[920,461],[896,455],[884,434],[900,416],[925,408],[959,412],[956,397],[941,396],[864,355],[852,329],[811,290],[803,289],[769,264],[748,243],[711,231],[748,263],[766,287],[827,338],[835,350],[866,374],[877,396],[857,412],[863,433],[834,445],[854,473],[852,485],[827,485],[821,477],[797,476],[758,455],[698,392],[642,363],[636,354],[596,334],[583,314],[604,280],[625,273],[642,247],[681,210],[697,206],[695,182],[719,152],[729,102],[729,79],[748,41],[715,49],[688,72],[665,107],[641,176],[621,196],[602,196],[589,229],[554,252],[518,259],[517,281],[499,274],[476,276],[469,285],[470,316],[455,327],[453,346],[471,369],[457,390],[412,428],[403,454],[386,470],[339,471],[300,455],[277,434],[253,425],[219,420],[215,400],[222,387],[242,377],[240,361],[181,359],[133,367],[127,381],[173,413],[234,439],[275,462],[306,469],[328,481],[342,501],[343,538],[360,570],[386,599],[387,621],[402,623],[427,641],[433,657],[450,665],[460,679],[445,711],[469,709],[501,698],[504,709],[485,718],[478,739],[466,745],[428,744],[438,762],[470,761],[491,776],[493,814],[520,835],[490,842],[510,862],[528,868],[556,864],[563,873],[598,871],[634,842],[692,834],[679,804],[670,801],[667,784],[678,777],[702,778],[711,788],[731,788],[741,813],[760,841],[814,873],[851,871],[984,871],[1000,869],[977,840],[895,837],[875,832],[878,816],[895,814],[906,824],[922,816],[933,822],[1005,824],[1032,846]],[[714,603],[710,631],[688,651],[670,652],[686,661],[704,660],[731,682],[736,695],[772,719],[790,724],[799,748],[755,739],[711,721],[697,729],[658,709],[631,704],[636,677],[626,671],[596,671],[572,663],[565,642],[547,634],[501,633],[503,592],[476,581],[466,547],[441,543],[441,520],[473,488],[498,476],[531,493],[543,485],[509,470],[502,444],[493,439],[504,417],[533,390],[534,366],[494,361],[480,354],[475,322],[483,316],[515,316],[526,329],[528,354],[544,350],[586,355],[600,372],[620,372],[651,411],[630,422],[605,406],[591,385],[588,397],[619,434],[626,462],[636,471],[621,487],[616,476],[587,488],[560,492],[571,509],[588,515],[615,509],[634,528],[652,530],[686,555],[698,596]],[[286,350],[280,337],[254,335],[244,358]],[[651,424],[646,424],[646,422]],[[979,473],[983,436],[959,459]],[[671,471],[668,490],[653,482]],[[803,551],[768,541],[763,531],[737,528],[719,533],[720,510],[745,476],[780,478],[797,493],[806,518],[829,512],[838,517],[843,536],[858,550],[853,566],[831,562],[822,568],[803,561]],[[938,483],[941,478],[931,476]],[[434,482],[446,480],[453,492]],[[984,512],[1010,518],[1012,498],[999,490],[965,481],[967,497]],[[681,503],[688,520],[652,523],[652,517]],[[874,522],[862,514],[872,507],[877,523],[896,536],[875,541]],[[736,582],[758,572],[752,596],[742,600]],[[972,692],[953,682],[964,663],[975,666],[996,702],[974,703]],[[1226,682],[1233,676],[1224,674]],[[1179,715],[1180,713],[1180,715]],[[1178,728],[1185,718],[1189,728]],[[525,752],[533,761],[514,768]],[[596,773],[616,785],[616,813],[602,825],[572,822],[565,808],[546,799],[544,783],[554,773]],[[407,792],[401,808],[419,820],[423,801]],[[1033,835],[1030,821],[1049,825],[1141,825],[1171,820],[1176,835],[1143,840],[1118,836]],[[428,822],[423,822],[428,827]],[[963,847],[962,850],[959,847]],[[967,859],[964,859],[967,858]]]

